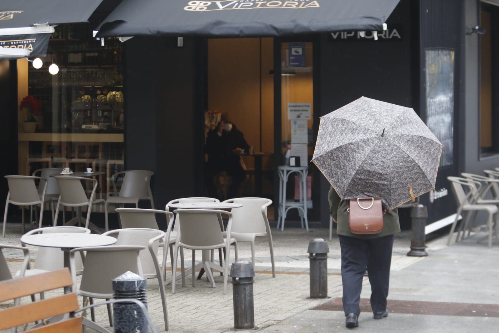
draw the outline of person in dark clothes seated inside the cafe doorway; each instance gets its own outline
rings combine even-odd
[[[205,145],[205,152],[208,154],[205,182],[209,196],[218,198],[213,177],[222,171],[227,171],[232,177],[228,198],[237,196],[241,183],[246,179],[246,171],[241,165],[241,154],[248,153],[249,149],[243,132],[227,115],[222,117],[216,128],[208,132]]]

